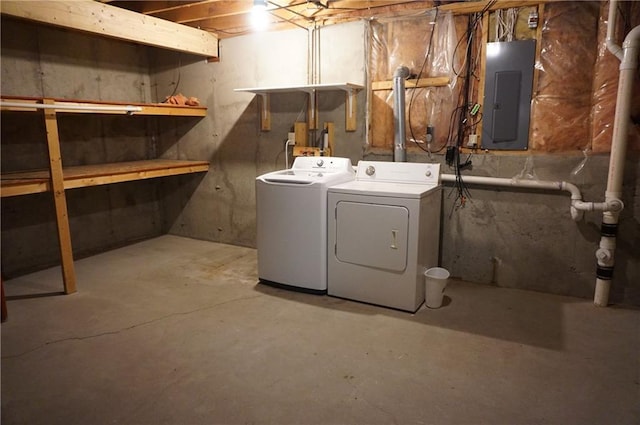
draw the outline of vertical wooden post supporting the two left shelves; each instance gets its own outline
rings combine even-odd
[[[52,99],[43,99],[42,103],[53,105]],[[56,208],[56,225],[58,227],[58,242],[62,262],[62,279],[65,294],[76,292],[76,272],[73,264],[73,249],[71,247],[71,231],[67,213],[67,199],[64,192],[64,176],[62,173],[62,156],[60,153],[60,138],[58,136],[58,121],[55,109],[43,109],[45,127],[47,129],[47,149],[49,153],[49,172],[51,190]]]

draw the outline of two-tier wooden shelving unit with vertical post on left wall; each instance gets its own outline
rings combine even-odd
[[[204,117],[207,114],[206,107],[2,96],[0,110],[39,113],[45,121],[49,168],[2,173],[0,196],[4,198],[41,192],[52,193],[62,259],[64,292],[67,294],[76,292],[76,277],[65,190],[200,173],[209,169],[207,161],[168,159],[63,167],[57,123],[58,113]]]

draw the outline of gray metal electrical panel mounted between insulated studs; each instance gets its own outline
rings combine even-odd
[[[535,40],[487,43],[483,149],[527,149],[535,56]]]

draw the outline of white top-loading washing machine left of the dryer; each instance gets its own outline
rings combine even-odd
[[[327,188],[354,178],[349,158],[298,157],[256,179],[261,282],[327,292]]]

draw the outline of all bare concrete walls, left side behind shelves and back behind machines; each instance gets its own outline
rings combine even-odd
[[[206,159],[204,176],[182,176],[69,193],[74,246],[84,253],[170,232],[230,244],[255,246],[255,178],[284,168],[284,140],[304,121],[306,95],[271,97],[272,129],[259,129],[254,95],[235,88],[305,84],[307,34],[303,30],[222,40],[221,61],[126,43],[98,40],[12,21],[2,22],[2,92],[104,100],[161,101],[174,91],[208,106],[204,119],[139,122],[103,117],[61,120],[65,161],[74,163],[163,156]],[[10,31],[14,36],[5,37]],[[17,36],[15,36],[17,34]],[[71,38],[72,37],[72,38]],[[364,84],[365,26],[352,23],[321,30],[321,82]],[[147,52],[150,52],[147,73]],[[359,92],[358,128],[344,131],[344,94],[324,93],[320,121],[336,125],[336,155],[391,160],[367,148],[366,93]],[[27,120],[25,123],[24,120]],[[3,116],[2,167],[46,163],[43,128],[36,120]],[[20,137],[16,137],[19,135]],[[178,141],[178,142],[176,142]],[[410,153],[409,161],[427,161]],[[529,157],[480,154],[469,174],[513,177]],[[603,199],[608,156],[531,157],[537,178],[576,183],[586,200]],[[441,156],[433,160],[442,161]],[[452,173],[446,165],[443,172]],[[640,305],[640,165],[627,161],[612,301]],[[601,217],[587,213],[575,223],[565,193],[470,187],[464,208],[454,209],[451,186],[443,190],[441,264],[455,277],[504,287],[591,298],[594,252]],[[53,209],[41,194],[2,202],[3,272],[44,266],[57,258]],[[44,236],[43,236],[44,235]]]

